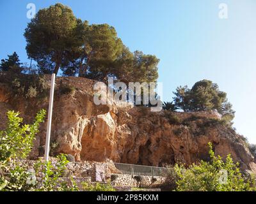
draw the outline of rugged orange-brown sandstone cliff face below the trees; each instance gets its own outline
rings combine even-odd
[[[51,138],[58,143],[56,152],[72,154],[77,161],[111,159],[119,163],[164,166],[209,159],[207,143],[211,142],[216,154],[222,157],[231,154],[241,168],[256,171],[254,158],[241,137],[218,122],[220,115],[215,112],[150,112],[149,108],[128,104],[95,105],[95,81],[58,77],[56,89],[60,80],[76,87],[76,91],[56,94],[54,98]],[[5,90],[0,89],[0,106],[5,107],[0,111],[1,120],[9,108],[19,110],[26,121],[31,121],[40,108],[47,109],[47,99],[20,98],[15,103]],[[38,147],[45,143],[46,122],[36,137],[31,156],[39,156]]]

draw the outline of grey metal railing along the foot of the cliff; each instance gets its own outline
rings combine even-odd
[[[167,168],[157,166],[143,166],[136,164],[114,163],[115,167],[124,174],[163,176]]]

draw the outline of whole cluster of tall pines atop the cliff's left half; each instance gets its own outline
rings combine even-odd
[[[116,30],[108,24],[92,24],[77,19],[72,10],[55,4],[39,10],[26,28],[28,56],[38,62],[40,73],[92,78],[106,82],[115,77],[122,82],[156,82],[155,55],[129,51]]]

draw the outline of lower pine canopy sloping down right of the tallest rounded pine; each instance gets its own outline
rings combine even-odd
[[[82,39],[82,40],[81,40]],[[143,52],[129,51],[118,38],[115,28],[108,24],[80,22],[77,41],[80,47],[72,54],[64,75],[92,78],[106,82],[108,76],[125,82],[156,82],[159,59]]]

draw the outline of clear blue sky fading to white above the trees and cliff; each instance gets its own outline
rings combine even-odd
[[[0,59],[16,51],[28,61],[27,4],[39,10],[58,2],[91,24],[113,25],[132,51],[155,54],[164,101],[179,85],[191,87],[204,78],[216,82],[236,110],[237,131],[256,143],[255,0],[0,1]],[[220,3],[228,6],[227,19],[218,17]]]

